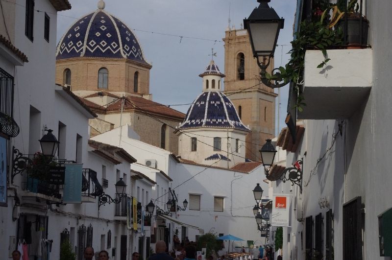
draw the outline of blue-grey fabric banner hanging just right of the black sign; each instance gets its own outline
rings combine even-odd
[[[63,203],[82,203],[82,164],[66,164]]]

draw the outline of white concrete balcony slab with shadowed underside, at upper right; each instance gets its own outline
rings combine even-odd
[[[303,97],[298,119],[346,119],[360,109],[372,87],[372,49],[331,49],[326,68],[319,50],[305,54]]]

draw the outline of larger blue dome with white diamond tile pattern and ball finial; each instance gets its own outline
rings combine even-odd
[[[61,38],[56,60],[79,57],[129,59],[148,64],[132,30],[103,10],[83,16]]]

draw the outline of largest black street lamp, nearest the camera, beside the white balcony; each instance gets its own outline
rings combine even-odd
[[[248,19],[244,19],[244,28],[247,29],[249,34],[253,57],[257,59],[257,64],[261,69],[261,81],[270,88],[280,88],[286,85],[287,82],[279,83],[283,79],[278,78],[279,74],[275,74],[273,78],[275,82],[272,83],[266,77],[266,70],[270,65],[270,58],[274,55],[279,31],[284,26],[284,19],[279,18],[275,10],[268,6],[270,0],[257,1],[260,5],[252,11]],[[272,72],[275,70],[279,69],[274,69]]]

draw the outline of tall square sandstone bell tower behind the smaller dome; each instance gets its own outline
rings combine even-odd
[[[261,161],[259,149],[275,134],[275,97],[273,89],[260,81],[260,68],[253,58],[245,29],[228,29],[224,41],[224,94],[230,99],[245,125],[249,125],[245,141],[245,157]],[[273,68],[270,62],[268,72]]]

